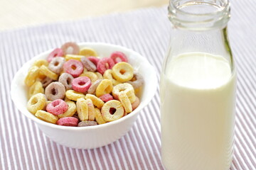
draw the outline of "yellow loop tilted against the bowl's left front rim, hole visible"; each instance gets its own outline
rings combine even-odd
[[[46,96],[44,94],[35,94],[27,104],[28,111],[35,114],[36,111],[42,110],[46,106]]]

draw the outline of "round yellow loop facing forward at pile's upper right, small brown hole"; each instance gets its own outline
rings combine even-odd
[[[112,75],[114,79],[117,81],[125,82],[132,79],[133,75],[133,68],[132,65],[128,62],[118,62],[112,68],[113,72]]]

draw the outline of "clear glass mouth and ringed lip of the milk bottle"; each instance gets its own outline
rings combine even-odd
[[[169,19],[178,28],[224,28],[230,18],[229,0],[170,0]]]

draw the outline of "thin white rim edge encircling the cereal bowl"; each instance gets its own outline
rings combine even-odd
[[[31,60],[28,60],[28,62],[26,62],[25,64],[23,64],[23,66],[18,69],[18,72],[16,72],[16,74],[14,75],[14,78],[12,79],[11,81],[11,99],[12,101],[14,102],[14,105],[16,106],[16,108],[18,108],[18,111],[20,111],[23,115],[25,115],[27,118],[33,120],[34,122],[40,124],[40,125],[44,125],[44,126],[48,126],[49,128],[55,128],[55,129],[60,129],[60,130],[91,130],[91,129],[97,129],[97,128],[105,128],[107,126],[111,126],[111,125],[115,125],[115,124],[118,124],[118,123],[122,123],[123,121],[127,120],[128,118],[134,116],[134,115],[137,115],[139,113],[139,111],[142,110],[142,108],[146,107],[149,102],[151,101],[151,99],[155,96],[156,94],[156,89],[157,89],[157,77],[156,77],[156,69],[149,63],[148,60],[146,60],[146,57],[143,57],[142,55],[140,55],[138,52],[135,52],[134,50],[131,50],[127,47],[123,47],[121,45],[114,45],[114,44],[111,44],[111,43],[106,43],[106,42],[79,42],[77,43],[78,46],[84,46],[84,45],[103,45],[103,46],[109,46],[109,47],[116,47],[116,48],[119,48],[120,51],[127,51],[127,52],[131,52],[132,54],[134,55],[137,55],[139,56],[140,58],[142,58],[142,60],[144,60],[144,63],[146,63],[146,65],[148,65],[148,67],[150,67],[150,69],[152,69],[152,73],[154,75],[152,75],[154,78],[151,80],[151,82],[153,83],[153,86],[154,86],[154,91],[152,91],[150,94],[149,94],[149,97],[145,98],[144,100],[144,105],[140,105],[138,108],[136,108],[134,111],[132,111],[131,113],[125,115],[124,117],[122,118],[119,118],[118,120],[114,120],[112,122],[108,122],[108,123],[104,123],[104,124],[100,124],[100,125],[95,125],[95,126],[86,126],[86,127],[72,127],[72,126],[62,126],[62,125],[56,125],[56,124],[53,124],[53,123],[48,123],[46,121],[43,121],[43,120],[40,120],[38,118],[36,118],[36,116],[29,116],[28,114],[31,114],[33,115],[32,113],[30,113],[26,106],[23,106],[21,104],[18,104],[19,102],[17,101],[16,99],[16,95],[14,94],[14,86],[16,84],[14,84],[14,82],[16,81],[16,79],[18,79],[18,76],[21,74],[21,72],[23,71],[24,68],[27,67],[27,65],[31,65],[31,63],[35,60],[37,60],[38,57],[41,57],[42,55],[47,55],[47,54],[50,54],[50,52],[52,52],[54,49],[50,49],[50,50],[47,50],[46,52],[41,52],[40,54],[34,56],[31,58]],[[145,91],[144,91],[145,93]],[[23,108],[26,108],[26,110],[24,111]]]

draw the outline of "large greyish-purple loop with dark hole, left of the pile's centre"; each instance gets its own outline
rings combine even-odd
[[[55,81],[46,87],[45,94],[49,101],[63,99],[65,96],[65,86],[60,82]]]

